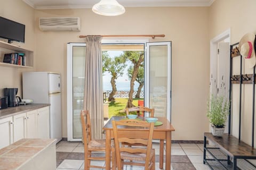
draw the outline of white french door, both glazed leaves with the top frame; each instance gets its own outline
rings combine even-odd
[[[171,42],[146,40],[117,41],[118,44],[145,44],[145,106],[155,108],[155,116],[171,122]],[[117,44],[104,41],[102,44]],[[83,109],[86,43],[67,44],[67,124],[68,141],[81,141],[80,112]]]

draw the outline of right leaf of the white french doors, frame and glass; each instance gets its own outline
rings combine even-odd
[[[145,104],[171,122],[171,41],[146,46]]]

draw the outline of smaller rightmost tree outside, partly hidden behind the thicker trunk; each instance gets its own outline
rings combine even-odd
[[[132,73],[133,73],[133,67],[130,66],[127,71],[128,71],[129,80],[131,80]],[[139,67],[139,71],[138,71],[135,81],[137,81],[139,83],[138,91],[137,91],[135,98],[140,98],[140,92],[144,86],[144,63],[142,63],[142,66]]]

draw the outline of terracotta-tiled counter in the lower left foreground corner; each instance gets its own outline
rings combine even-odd
[[[21,139],[0,149],[1,170],[55,170],[55,139]]]

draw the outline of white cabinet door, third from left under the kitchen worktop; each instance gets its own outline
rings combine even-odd
[[[37,138],[37,110],[27,112],[27,138]]]

